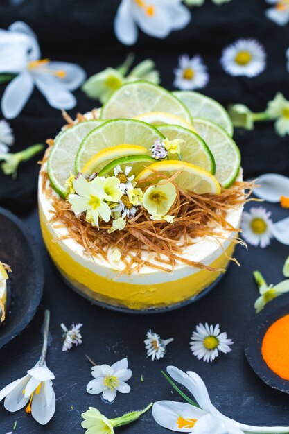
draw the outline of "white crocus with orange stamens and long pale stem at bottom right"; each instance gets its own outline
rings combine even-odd
[[[171,431],[191,434],[288,433],[289,427],[240,424],[220,413],[211,403],[204,381],[195,372],[183,372],[169,366],[168,374],[193,394],[200,408],[189,403],[159,401],[152,407],[157,424]]]

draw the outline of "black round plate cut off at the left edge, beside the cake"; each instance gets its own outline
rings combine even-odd
[[[12,268],[10,306],[0,327],[0,348],[25,329],[40,304],[44,286],[40,258],[24,223],[0,207],[0,260]]]

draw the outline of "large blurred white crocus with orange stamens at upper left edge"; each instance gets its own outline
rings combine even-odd
[[[0,30],[0,73],[17,74],[7,85],[1,101],[1,109],[7,119],[18,116],[34,85],[51,107],[75,107],[76,98],[71,90],[77,89],[86,76],[77,64],[41,60],[35,33],[21,21],[12,24],[8,31]]]

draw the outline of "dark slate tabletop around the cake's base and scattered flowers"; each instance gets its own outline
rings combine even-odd
[[[277,205],[268,206],[268,209],[272,209],[275,221],[288,216],[288,211]],[[213,403],[225,415],[247,424],[289,426],[288,394],[265,385],[249,367],[243,351],[243,336],[254,315],[254,301],[258,297],[252,272],[261,270],[268,283],[281,281],[281,268],[288,255],[288,246],[273,241],[265,250],[251,247],[246,252],[245,248],[238,247],[236,257],[242,266],[238,268],[232,263],[218,286],[202,300],[179,311],[129,315],[93,306],[69,289],[58,276],[44,248],[37,211],[33,211],[25,221],[42,252],[46,278],[44,297],[30,326],[0,351],[0,388],[23,376],[36,363],[42,345],[40,329],[44,309],[51,309],[51,345],[47,364],[55,374],[56,412],[51,422],[43,427],[24,410],[12,414],[0,404],[1,434],[12,431],[15,420],[15,434],[83,433],[80,414],[89,406],[95,406],[112,418],[129,410],[144,408],[150,401],[181,400],[161,375],[161,370],[167,365],[200,374],[207,383]],[[60,322],[84,324],[82,346],[69,353],[62,352]],[[198,322],[220,322],[221,330],[227,331],[235,342],[231,353],[220,356],[211,364],[198,361],[189,349],[191,333]],[[163,338],[175,338],[162,361],[152,362],[146,358],[143,339],[150,328]],[[99,395],[88,394],[86,385],[92,376],[85,354],[98,364],[112,364],[127,356],[133,371],[129,381],[130,394],[117,394],[112,406],[103,403]],[[155,424],[149,412],[135,424],[116,432],[165,434],[168,431]]]

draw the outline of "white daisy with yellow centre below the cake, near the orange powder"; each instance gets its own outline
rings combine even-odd
[[[194,356],[199,360],[203,359],[204,362],[212,362],[222,353],[229,353],[234,342],[227,338],[227,333],[220,333],[220,326],[217,324],[215,327],[209,324],[199,324],[196,331],[193,331],[191,337],[191,351]]]

